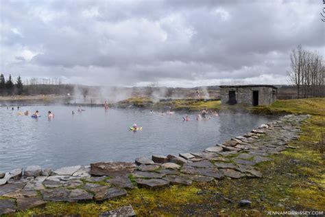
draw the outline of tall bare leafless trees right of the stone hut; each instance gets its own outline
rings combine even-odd
[[[288,71],[291,84],[297,88],[298,98],[325,96],[325,65],[317,52],[302,49],[298,45],[290,54]]]

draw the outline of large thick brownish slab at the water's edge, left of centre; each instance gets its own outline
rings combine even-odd
[[[121,176],[123,174],[130,174],[135,170],[134,163],[126,162],[99,162],[91,163],[91,172],[95,176]]]

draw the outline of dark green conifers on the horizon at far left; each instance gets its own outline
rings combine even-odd
[[[5,76],[1,73],[0,76],[0,95],[13,95],[23,93],[23,82],[21,76],[13,81],[11,75],[5,80]]]

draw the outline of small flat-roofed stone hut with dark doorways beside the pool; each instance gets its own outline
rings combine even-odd
[[[269,105],[276,101],[277,87],[272,85],[220,86],[221,104]]]

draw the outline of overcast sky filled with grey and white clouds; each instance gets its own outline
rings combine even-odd
[[[286,84],[325,47],[322,0],[0,0],[1,73],[89,85]]]

